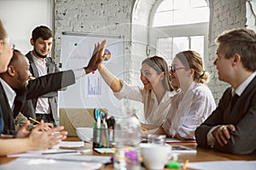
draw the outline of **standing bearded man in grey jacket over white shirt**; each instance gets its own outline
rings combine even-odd
[[[54,34],[47,26],[38,26],[32,31],[30,39],[33,50],[26,54],[30,62],[30,72],[33,77],[42,77],[49,73],[58,72],[59,68],[55,60],[48,56],[52,48]],[[21,113],[27,117],[34,117],[40,122],[59,124],[57,113],[57,91],[44,94],[38,98],[29,99]]]

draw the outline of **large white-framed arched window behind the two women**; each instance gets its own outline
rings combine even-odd
[[[149,42],[155,47],[153,53],[170,59],[170,62],[175,54],[187,49],[206,57],[209,25],[206,0],[157,1],[150,25]]]

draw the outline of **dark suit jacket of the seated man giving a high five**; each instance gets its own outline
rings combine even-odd
[[[73,71],[61,71],[44,77],[38,77],[35,80],[29,81],[26,88],[16,91],[15,108],[11,111],[7,96],[4,92],[2,83],[0,83],[0,102],[3,113],[4,134],[15,134],[14,118],[20,112],[26,99],[37,98],[51,91],[56,91],[60,88],[66,88],[75,83]]]

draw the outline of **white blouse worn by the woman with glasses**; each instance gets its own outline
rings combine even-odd
[[[170,111],[163,124],[168,136],[178,133],[182,138],[195,139],[195,129],[204,122],[216,105],[210,89],[192,82],[186,94],[180,90],[171,101]]]

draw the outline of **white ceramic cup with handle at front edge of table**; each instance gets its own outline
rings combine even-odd
[[[150,170],[162,170],[171,159],[177,161],[171,145],[141,144],[141,150],[144,165]]]

